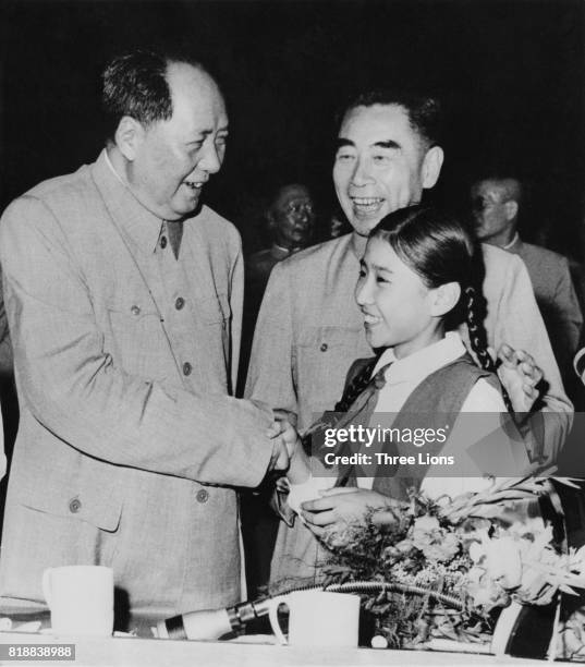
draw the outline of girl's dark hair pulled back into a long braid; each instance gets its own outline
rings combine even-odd
[[[459,282],[461,296],[444,317],[446,329],[454,329],[465,322],[472,350],[482,368],[495,373],[496,364],[487,351],[484,327],[484,263],[477,244],[463,225],[444,211],[416,205],[389,214],[370,235],[388,241],[400,259],[418,274],[429,289]],[[503,398],[511,410],[505,391]]]

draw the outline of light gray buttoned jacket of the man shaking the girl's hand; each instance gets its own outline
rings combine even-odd
[[[134,611],[240,598],[237,499],[271,413],[229,397],[242,256],[204,207],[179,259],[106,160],[16,199],[0,225],[21,424],[0,587],[42,601],[45,568],[99,563]],[[163,250],[166,248],[166,250]]]

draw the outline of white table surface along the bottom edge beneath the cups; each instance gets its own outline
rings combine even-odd
[[[81,638],[51,634],[0,632],[0,644],[75,644],[75,662],[1,662],[2,665],[74,665],[99,667],[295,667],[322,665],[344,667],[350,665],[545,665],[541,660],[510,656],[388,651],[374,648],[336,648],[275,646],[245,642],[187,642],[142,638]]]

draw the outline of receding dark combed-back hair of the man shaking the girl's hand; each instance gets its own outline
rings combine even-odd
[[[205,71],[188,54],[137,49],[115,57],[103,70],[101,102],[108,138],[113,138],[124,116],[145,126],[172,116],[172,99],[167,66],[186,62]]]

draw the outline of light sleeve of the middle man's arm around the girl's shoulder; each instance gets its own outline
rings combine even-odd
[[[503,281],[497,313],[488,313],[493,331],[490,344],[497,350],[502,343],[525,350],[540,366],[547,383],[543,408],[545,417],[545,456],[548,461],[557,458],[573,421],[573,405],[564,393],[559,367],[554,360],[545,323],[538,310],[528,271],[522,259],[510,255],[508,269],[499,280]],[[487,269],[487,266],[486,266]],[[498,268],[492,267],[492,272]],[[487,275],[487,271],[486,271]],[[488,329],[490,327],[488,326]]]

